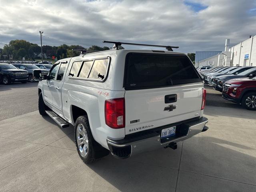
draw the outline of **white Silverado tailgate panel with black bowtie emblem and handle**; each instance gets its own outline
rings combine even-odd
[[[125,134],[200,115],[202,83],[125,92]]]

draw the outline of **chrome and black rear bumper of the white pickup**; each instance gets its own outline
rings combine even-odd
[[[166,147],[172,142],[180,142],[200,132],[204,132],[208,130],[208,127],[205,126],[207,122],[208,119],[202,117],[196,120],[179,123],[176,128],[178,134],[170,138],[161,139],[161,130],[164,128],[176,126],[175,124],[162,126],[162,128],[154,128],[154,130],[142,131],[122,140],[107,139],[107,144],[113,156],[116,158],[128,158],[136,154],[141,154],[143,152]]]

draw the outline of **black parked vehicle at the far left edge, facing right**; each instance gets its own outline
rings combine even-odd
[[[12,64],[0,64],[1,82],[5,85],[12,82],[26,83],[28,81],[28,72],[26,70],[17,69]]]

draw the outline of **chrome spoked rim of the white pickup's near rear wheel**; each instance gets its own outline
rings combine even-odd
[[[82,124],[78,124],[76,128],[76,142],[80,155],[86,157],[88,155],[89,141],[86,129]]]

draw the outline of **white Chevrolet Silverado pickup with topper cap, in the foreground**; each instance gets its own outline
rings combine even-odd
[[[184,53],[112,49],[59,60],[45,79],[40,75],[40,114],[74,126],[86,164],[109,152],[128,158],[176,149],[208,129],[203,80]]]

